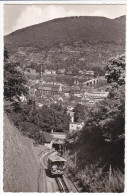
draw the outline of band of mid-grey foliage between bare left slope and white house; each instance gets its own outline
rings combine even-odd
[[[43,144],[43,132],[68,131],[69,116],[62,106],[53,104],[51,107],[37,108],[34,101],[28,103],[13,103],[5,106],[10,119],[26,136],[34,139],[36,143]]]

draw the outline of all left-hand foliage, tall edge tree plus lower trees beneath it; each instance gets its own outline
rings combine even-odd
[[[43,131],[67,131],[69,116],[61,105],[36,107],[35,100],[28,94],[26,78],[18,64],[9,62],[9,54],[5,49],[4,64],[4,99],[5,111],[11,120],[26,136],[43,144]],[[27,96],[25,103],[20,97]]]

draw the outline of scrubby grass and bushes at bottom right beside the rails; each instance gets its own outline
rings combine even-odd
[[[109,181],[109,172],[104,172],[103,168],[97,168],[96,165],[86,166],[85,169],[77,169],[69,166],[70,173],[79,186],[82,186],[83,192],[123,192],[124,174],[120,170],[114,170]],[[68,171],[69,172],[69,171]]]

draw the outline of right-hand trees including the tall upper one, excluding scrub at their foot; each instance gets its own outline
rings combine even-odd
[[[113,169],[124,172],[124,77],[125,55],[109,59],[107,67],[107,78],[111,83],[109,96],[89,110],[84,128],[75,133],[73,139],[70,137],[71,149],[77,150],[77,167],[80,171],[87,165],[97,164],[97,167],[103,167],[105,171],[109,170],[111,165]],[[77,105],[75,112],[76,121],[85,116],[82,105]]]

